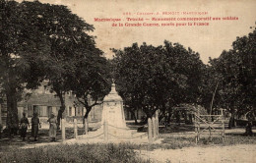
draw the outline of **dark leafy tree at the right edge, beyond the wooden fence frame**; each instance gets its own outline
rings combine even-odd
[[[237,37],[232,49],[210,63],[221,76],[219,94],[221,107],[231,113],[229,128],[233,126],[234,114],[255,112],[255,54],[256,30],[248,36]]]

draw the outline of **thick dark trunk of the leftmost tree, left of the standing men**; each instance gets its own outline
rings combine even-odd
[[[17,108],[17,95],[16,88],[7,90],[7,119],[6,125],[10,136],[17,135],[19,129],[18,108]]]

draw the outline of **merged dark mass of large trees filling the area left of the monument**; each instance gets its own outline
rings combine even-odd
[[[83,81],[83,88],[88,87],[94,98],[104,94],[99,90],[105,83],[98,79],[107,64],[101,57],[102,52],[96,48],[95,37],[87,33],[94,30],[92,25],[62,5],[1,1],[1,7],[4,12],[1,12],[0,73],[3,76],[0,83],[5,90],[12,85],[7,97],[8,92],[12,92],[11,96],[16,98],[7,100],[16,102],[24,83],[28,88],[35,88],[40,81],[47,81],[50,90],[60,98],[60,121],[65,110],[65,93],[74,89],[72,84],[77,77],[82,76],[80,80],[84,80],[87,76],[91,80]],[[96,80],[94,92],[92,79]],[[75,84],[79,85],[78,82]],[[81,91],[76,89],[79,95]],[[16,108],[14,113],[18,120],[17,102],[10,107]]]

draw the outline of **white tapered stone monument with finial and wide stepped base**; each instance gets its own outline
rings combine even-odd
[[[103,110],[101,126],[96,132],[85,135],[85,138],[104,138],[104,139],[131,139],[145,135],[137,133],[137,130],[130,130],[126,127],[123,100],[115,90],[115,84],[112,83],[111,91],[103,99]]]

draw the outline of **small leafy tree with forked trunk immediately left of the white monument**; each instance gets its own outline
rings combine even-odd
[[[73,58],[73,61],[77,60],[76,66],[74,74],[68,78],[70,89],[76,94],[78,102],[86,108],[86,127],[89,113],[94,106],[101,104],[110,90],[109,62],[101,55],[102,52],[94,47],[89,53],[85,52],[81,57]]]

